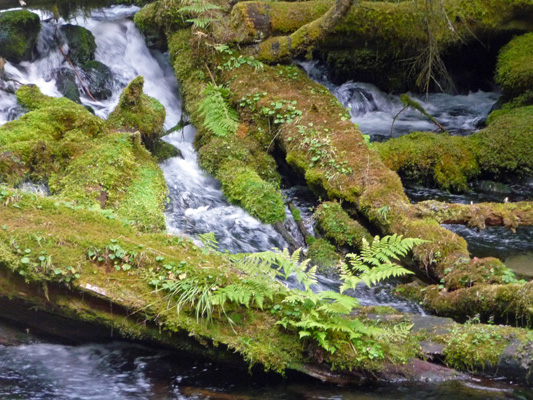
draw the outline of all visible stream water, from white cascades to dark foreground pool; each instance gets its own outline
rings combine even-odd
[[[82,95],[84,105],[91,106],[98,116],[106,118],[118,103],[121,90],[137,75],[143,75],[145,92],[165,106],[165,128],[170,129],[178,123],[182,114],[178,83],[168,55],[148,49],[144,38],[131,21],[130,17],[138,9],[134,6],[116,6],[93,11],[90,17],[60,20],[59,24],[69,22],[89,29],[97,43],[96,60],[106,64],[113,73],[113,95],[99,102]],[[61,94],[56,88],[54,71],[66,66],[59,50],[53,45],[56,23],[50,20],[50,14],[38,13],[43,20],[38,59],[20,65],[7,63],[5,71],[19,82],[36,84],[43,93],[58,97]],[[313,68],[319,69],[312,63],[307,66],[311,72]],[[336,90],[338,96],[345,94],[343,104],[351,105],[352,117],[357,118],[361,129],[365,129],[367,123],[370,126],[376,125],[378,120],[389,117],[392,120],[393,114],[397,112],[398,102],[383,94],[379,97],[370,85],[361,85],[366,85],[364,90],[353,89],[352,86],[328,87]],[[369,96],[354,93],[371,93],[373,98],[383,100],[380,107],[389,107],[390,110],[376,108],[372,111],[374,106],[370,104],[368,107],[371,111],[363,112],[362,106],[359,107],[353,97],[368,100]],[[456,127],[458,134],[471,132],[486,118],[497,97],[495,93],[450,96],[445,99],[450,108],[439,118],[443,123],[449,122],[446,126]],[[429,110],[431,101],[440,101],[439,99],[442,98],[428,100],[429,103],[424,103],[424,107]],[[465,104],[471,104],[472,110],[480,107],[483,112],[469,111],[465,115],[454,116],[454,107],[461,108]],[[23,112],[14,95],[0,90],[0,125],[19,117]],[[366,114],[372,115],[367,119],[359,118]],[[445,118],[445,115],[449,117]],[[382,133],[378,136],[386,137],[387,124],[382,125],[383,129],[379,131]],[[407,132],[415,126],[416,129],[432,128],[419,117],[408,113],[398,119],[396,126],[397,132]],[[390,130],[390,124],[387,129]],[[197,153],[192,146],[194,134],[194,127],[189,125],[164,138],[178,147],[183,155],[183,158],[174,157],[160,165],[170,191],[170,201],[165,212],[168,231],[192,237],[214,232],[220,249],[232,253],[286,247],[284,239],[271,226],[262,224],[241,208],[229,204],[219,183],[200,169]],[[41,190],[42,194],[48,194],[43,188],[36,188],[31,183],[25,184],[24,189]],[[308,229],[312,230],[310,217],[315,204],[312,197],[306,194],[306,189],[286,189],[284,195],[293,200],[307,222]],[[303,238],[298,236],[298,229],[290,215],[287,210],[286,228],[303,244]],[[531,237],[529,240],[532,241]],[[339,286],[339,282],[333,279],[319,276],[318,280],[317,290],[335,290]],[[358,287],[353,295],[363,305],[390,305],[402,312],[423,313],[418,305],[393,297],[390,294],[391,285],[392,283],[385,283],[371,289]],[[494,382],[339,387],[301,376],[286,380],[261,373],[250,376],[246,371],[233,370],[228,366],[186,359],[175,353],[126,343],[68,346],[32,339],[18,346],[0,347],[0,397],[5,399],[366,400],[411,399],[413,393],[416,393],[416,398],[427,400],[448,399],[452,396],[457,400],[533,399],[531,390]]]

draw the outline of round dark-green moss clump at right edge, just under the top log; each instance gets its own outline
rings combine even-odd
[[[501,50],[495,80],[508,97],[533,90],[533,33],[515,37]]]

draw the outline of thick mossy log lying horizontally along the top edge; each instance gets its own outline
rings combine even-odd
[[[295,32],[323,16],[333,4],[333,0],[237,3],[232,10],[235,39],[253,43]],[[427,11],[424,2],[363,1],[352,7],[335,27],[337,45],[371,41],[387,43],[398,51],[427,44]],[[465,36],[474,39],[474,35],[505,29],[531,30],[528,16],[532,12],[530,0],[446,0],[434,10],[434,35],[439,46],[444,47]]]

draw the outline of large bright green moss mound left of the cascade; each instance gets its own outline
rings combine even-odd
[[[34,111],[0,127],[0,180],[48,183],[77,205],[114,209],[143,230],[165,228],[163,174],[139,133],[110,133],[84,107],[36,87],[17,94]]]

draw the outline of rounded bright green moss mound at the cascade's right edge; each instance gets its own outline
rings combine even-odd
[[[278,188],[265,182],[244,163],[226,162],[216,178],[229,201],[241,205],[260,221],[272,224],[285,220],[285,205]]]

